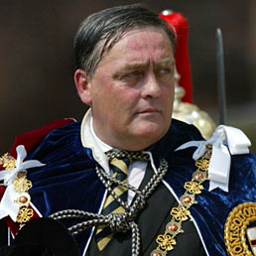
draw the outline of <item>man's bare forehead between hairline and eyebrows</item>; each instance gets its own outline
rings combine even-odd
[[[102,42],[103,43],[103,42]],[[162,28],[145,27],[129,30],[104,53],[96,69],[104,64],[117,63],[127,69],[146,64],[174,64],[172,43]]]

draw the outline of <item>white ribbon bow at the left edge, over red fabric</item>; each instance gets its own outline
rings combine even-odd
[[[16,192],[13,185],[18,173],[27,172],[26,170],[30,168],[45,166],[38,160],[24,162],[27,152],[23,145],[19,145],[16,152],[16,167],[12,170],[0,171],[0,181],[3,181],[2,185],[7,187],[0,201],[0,219],[9,215],[13,221],[16,221],[19,212],[17,198],[20,196],[20,192]]]

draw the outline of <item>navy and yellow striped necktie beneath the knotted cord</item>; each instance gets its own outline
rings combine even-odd
[[[131,162],[131,158],[127,157],[127,154],[122,154],[122,152],[107,152],[109,159],[109,168],[113,172],[112,177],[117,181],[127,184],[127,172],[128,167]],[[128,191],[127,188],[121,185],[112,184],[112,191],[122,200],[127,201]],[[103,205],[102,214],[107,215],[109,213],[124,213],[125,208],[119,204],[118,201],[114,199],[111,194],[108,194]],[[99,251],[110,242],[114,233],[111,231],[109,226],[98,226],[96,229],[96,243]]]

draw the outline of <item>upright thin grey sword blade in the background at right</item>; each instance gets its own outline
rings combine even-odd
[[[218,111],[219,124],[226,123],[226,92],[225,92],[225,67],[222,33],[216,30],[216,64],[217,64],[217,86],[218,86]]]

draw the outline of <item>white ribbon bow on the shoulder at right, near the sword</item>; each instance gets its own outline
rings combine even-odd
[[[228,192],[229,172],[231,165],[231,155],[247,154],[248,147],[251,146],[250,140],[239,129],[219,125],[213,135],[206,141],[190,141],[180,146],[176,151],[197,147],[193,152],[192,158],[199,159],[207,144],[212,145],[212,155],[209,163],[208,178],[209,191],[220,188]],[[229,150],[229,151],[228,151]]]

